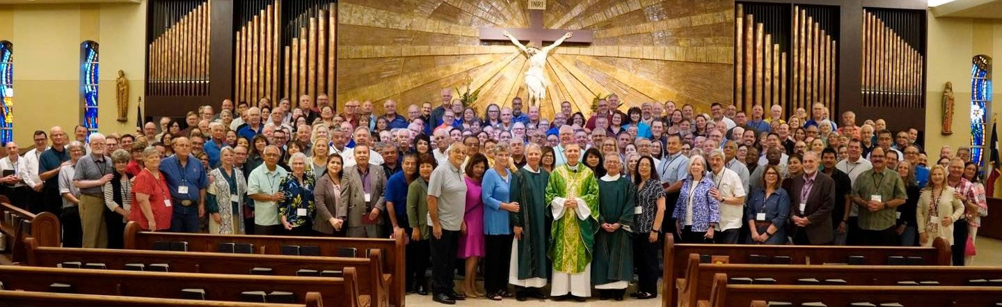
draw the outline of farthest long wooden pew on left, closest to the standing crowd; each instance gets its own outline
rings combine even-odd
[[[390,304],[404,307],[404,266],[406,235],[403,231],[394,234],[395,239],[333,238],[333,237],[288,237],[256,235],[209,235],[185,233],[144,232],[138,224],[125,225],[124,246],[130,250],[152,250],[156,242],[186,242],[189,252],[216,252],[219,244],[253,244],[256,254],[281,255],[283,246],[317,247],[318,256],[336,257],[343,248],[358,250],[356,257],[365,257],[367,250],[383,251],[383,271],[390,274]]]

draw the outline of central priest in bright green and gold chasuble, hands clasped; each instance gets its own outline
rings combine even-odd
[[[564,148],[567,164],[550,173],[546,204],[553,226],[547,256],[553,261],[550,295],[577,301],[591,296],[591,259],[598,231],[598,182],[591,169],[579,163],[581,147]]]

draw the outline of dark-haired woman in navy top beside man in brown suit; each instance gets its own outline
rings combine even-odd
[[[790,196],[780,188],[780,170],[770,165],[762,168],[765,168],[762,188],[756,190],[744,205],[744,219],[749,230],[747,242],[783,245],[787,243]]]

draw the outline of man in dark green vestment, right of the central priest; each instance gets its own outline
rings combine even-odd
[[[636,186],[622,176],[619,154],[605,156],[605,176],[598,179],[598,223],[591,279],[601,299],[620,301],[633,281],[633,214]]]

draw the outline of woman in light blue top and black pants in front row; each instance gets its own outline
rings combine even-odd
[[[511,173],[508,171],[508,144],[494,146],[494,167],[487,170],[481,187],[484,201],[484,244],[487,257],[484,260],[484,290],[487,298],[500,301],[511,297],[508,292],[508,267],[511,261],[511,226],[508,213],[518,212],[518,203],[509,203]]]

